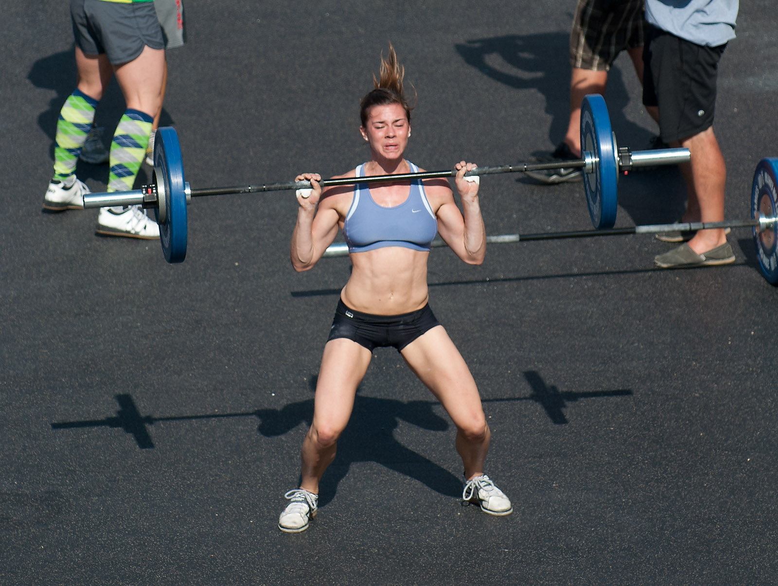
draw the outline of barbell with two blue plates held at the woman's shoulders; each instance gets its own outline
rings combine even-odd
[[[689,160],[689,149],[654,149],[631,151],[616,145],[612,132],[608,107],[598,94],[584,98],[581,105],[580,160],[554,163],[519,163],[498,167],[477,167],[467,175],[497,173],[526,173],[561,167],[584,170],[584,191],[587,206],[595,228],[612,228],[618,209],[619,173],[636,167],[653,167],[684,163]],[[409,179],[433,179],[454,177],[456,170],[425,171],[419,173],[377,175],[371,177],[345,177],[321,181],[322,187],[365,183],[386,183]],[[154,209],[162,250],[168,262],[184,261],[187,251],[187,202],[194,197],[258,193],[310,188],[309,181],[286,181],[262,185],[231,188],[191,189],[184,181],[184,166],[178,136],[173,128],[159,128],[154,142],[154,174],[152,184],[132,191],[93,193],[84,196],[85,208],[102,208],[113,205],[142,205]]]

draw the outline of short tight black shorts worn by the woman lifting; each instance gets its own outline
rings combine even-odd
[[[352,310],[338,300],[327,341],[346,338],[370,352],[379,346],[394,346],[400,351],[436,325],[440,322],[429,304],[409,314],[373,315]]]

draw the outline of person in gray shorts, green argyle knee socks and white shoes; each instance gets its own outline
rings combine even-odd
[[[89,188],[75,165],[92,128],[95,108],[116,75],[126,110],[111,142],[108,191],[128,191],[145,156],[154,116],[161,106],[165,68],[162,28],[149,0],[72,0],[78,81],[63,104],[54,138],[54,177],[44,209],[82,209]],[[101,208],[97,233],[159,238],[159,226],[139,205]]]

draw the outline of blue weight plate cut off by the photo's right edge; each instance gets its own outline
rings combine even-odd
[[[751,188],[751,217],[763,213],[769,218],[776,217],[778,209],[778,159],[762,159],[756,166],[754,182]],[[778,226],[773,224],[763,232],[754,228],[754,244],[759,268],[768,282],[778,285]]]

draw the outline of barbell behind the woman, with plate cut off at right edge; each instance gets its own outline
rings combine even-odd
[[[684,222],[672,224],[649,224],[645,226],[626,226],[603,230],[579,230],[573,232],[541,232],[534,234],[498,234],[487,236],[487,243],[513,243],[531,240],[559,240],[566,238],[587,238],[598,236],[624,236],[629,234],[659,234],[667,232],[684,232],[696,230],[711,230],[715,228],[743,228],[753,230],[756,256],[759,268],[765,279],[773,285],[778,285],[778,158],[766,158],[759,161],[754,174],[751,190],[751,219],[725,220],[724,222]],[[432,242],[433,247],[443,247],[447,244],[440,238]],[[337,257],[349,254],[349,247],[344,244],[331,244],[324,257]]]

